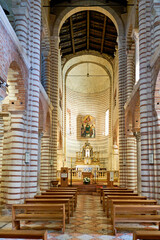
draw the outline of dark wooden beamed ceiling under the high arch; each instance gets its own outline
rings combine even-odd
[[[114,56],[117,30],[110,18],[96,11],[73,14],[60,31],[62,56],[95,50]]]

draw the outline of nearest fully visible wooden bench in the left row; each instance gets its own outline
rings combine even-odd
[[[20,213],[22,212],[23,213]],[[59,221],[65,232],[65,204],[14,204],[12,205],[12,228],[19,230],[20,221]]]

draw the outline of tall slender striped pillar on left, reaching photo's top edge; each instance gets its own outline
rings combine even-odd
[[[31,64],[28,81],[28,105],[26,117],[26,151],[30,153],[30,162],[26,166],[29,197],[37,192],[38,174],[38,127],[39,127],[39,82],[40,82],[40,35],[41,1],[30,1],[29,60]],[[32,192],[30,192],[32,189]],[[28,195],[27,195],[28,196]]]

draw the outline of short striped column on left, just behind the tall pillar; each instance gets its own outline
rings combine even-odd
[[[50,138],[43,136],[41,139],[41,171],[40,171],[40,188],[47,189],[50,182]]]

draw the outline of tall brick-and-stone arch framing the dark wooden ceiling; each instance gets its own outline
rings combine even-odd
[[[74,2],[75,3],[75,2]],[[100,1],[97,0],[93,0],[92,2],[94,5],[99,5]],[[86,4],[86,1],[82,0],[81,4]],[[115,12],[115,10],[113,10],[111,7],[106,6],[106,7],[75,7],[73,5],[73,9],[71,9],[70,7],[66,7],[64,9],[62,9],[62,11],[59,12],[59,14],[57,14],[56,16],[56,20],[54,22],[53,25],[53,29],[51,31],[51,45],[52,45],[52,52],[54,55],[54,63],[55,63],[55,68],[53,70],[54,72],[54,86],[57,89],[57,91],[54,92],[55,94],[55,102],[54,102],[54,114],[57,118],[58,116],[58,109],[57,109],[57,98],[56,96],[58,95],[58,57],[59,57],[59,48],[58,48],[58,43],[59,43],[59,32],[61,29],[61,26],[63,25],[63,23],[65,22],[65,20],[70,17],[71,15],[73,15],[74,13],[80,12],[80,11],[86,11],[86,10],[93,10],[93,11],[97,11],[100,12],[104,15],[106,15],[107,17],[109,17],[112,22],[114,23],[117,32],[118,32],[118,50],[119,50],[119,106],[120,106],[120,111],[119,111],[119,118],[120,118],[120,128],[119,129],[119,134],[122,135],[121,136],[121,144],[120,144],[120,148],[123,149],[124,148],[124,134],[123,132],[125,131],[125,126],[124,126],[124,108],[122,107],[124,105],[124,99],[126,96],[124,96],[126,94],[126,91],[123,91],[122,89],[124,89],[125,83],[126,83],[126,56],[125,56],[125,51],[126,51],[126,45],[125,45],[125,34],[124,34],[124,24],[123,21],[121,19],[121,17]],[[63,83],[64,84],[64,83]],[[65,86],[64,88],[65,89]],[[64,98],[63,98],[64,99]],[[65,108],[65,106],[64,106]],[[64,109],[65,112],[65,109]],[[65,118],[65,116],[64,116]],[[64,120],[65,122],[65,120]],[[57,128],[54,130],[54,132],[57,132]],[[63,135],[64,136],[64,135]],[[57,136],[55,136],[55,139],[57,139]],[[55,141],[54,139],[54,141]],[[57,146],[54,146],[54,161],[57,161],[56,158],[56,154],[57,154]],[[123,150],[121,150],[120,152],[123,152]],[[121,161],[122,161],[122,157],[121,157]],[[56,166],[56,165],[54,165]]]

